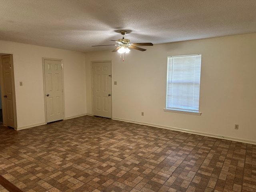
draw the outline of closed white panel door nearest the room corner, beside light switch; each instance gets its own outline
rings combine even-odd
[[[92,63],[93,113],[112,118],[111,62]]]

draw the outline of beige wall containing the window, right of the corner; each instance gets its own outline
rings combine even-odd
[[[114,119],[256,143],[256,34],[147,48],[132,50],[124,62],[110,51],[86,54],[88,114],[92,114],[90,62],[112,60]],[[163,111],[167,56],[187,54],[202,54],[201,116]]]

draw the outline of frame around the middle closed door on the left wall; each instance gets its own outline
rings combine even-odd
[[[63,68],[63,59],[55,59],[55,58],[42,58],[42,66],[43,66],[43,82],[44,82],[44,119],[45,124],[47,124],[47,112],[46,112],[46,85],[45,85],[45,71],[44,71],[44,60],[52,60],[52,61],[60,61],[61,62],[61,68],[62,68],[62,105],[63,105],[63,120],[65,119],[65,102],[64,102],[64,68]]]

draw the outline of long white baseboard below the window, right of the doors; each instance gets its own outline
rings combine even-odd
[[[256,144],[256,141],[254,141],[254,140],[246,140],[246,139],[242,139],[242,138],[227,137],[227,136],[222,136],[222,135],[218,135],[218,134],[211,134],[211,133],[206,133],[206,132],[193,131],[193,130],[188,130],[188,129],[181,129],[181,128],[176,128],[176,127],[158,125],[158,124],[151,124],[151,123],[134,121],[134,120],[129,120],[129,119],[114,118],[114,117],[112,119],[113,120],[118,120],[118,121],[135,123],[135,124],[147,125],[147,126],[152,126],[152,127],[157,127],[157,128],[169,129],[169,130],[174,130],[174,131],[197,134],[197,135],[202,135],[202,136],[208,136],[208,137],[226,139],[226,140],[231,140],[231,141],[237,141],[237,142],[242,142],[242,143],[248,143],[248,144],[254,144],[254,145]]]

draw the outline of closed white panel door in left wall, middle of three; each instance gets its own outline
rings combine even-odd
[[[61,61],[44,60],[47,123],[63,120]]]

